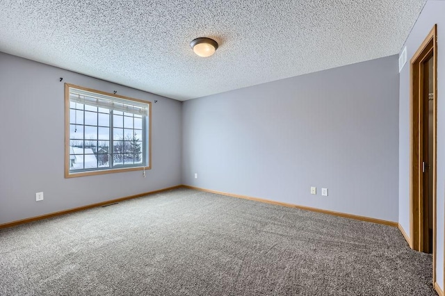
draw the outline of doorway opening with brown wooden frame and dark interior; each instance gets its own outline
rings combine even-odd
[[[436,263],[437,25],[411,59],[410,247]]]

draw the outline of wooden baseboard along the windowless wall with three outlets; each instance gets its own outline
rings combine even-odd
[[[380,219],[375,219],[375,218],[371,218],[371,217],[364,217],[364,216],[359,216],[359,215],[352,215],[352,214],[346,214],[346,213],[340,213],[340,212],[334,212],[334,211],[327,211],[327,210],[322,210],[320,208],[311,208],[309,206],[298,206],[296,204],[288,204],[286,202],[276,202],[276,201],[270,200],[270,199],[249,197],[249,196],[246,196],[246,195],[234,195],[232,193],[221,192],[221,191],[216,191],[216,190],[209,190],[209,189],[205,189],[205,188],[198,188],[198,187],[187,186],[187,185],[184,185],[184,187],[185,188],[190,188],[190,189],[195,189],[195,190],[200,190],[200,191],[204,191],[204,192],[215,193],[215,194],[218,194],[218,195],[226,195],[226,196],[229,196],[229,197],[237,197],[237,198],[241,198],[241,199],[249,199],[249,200],[253,200],[255,202],[264,202],[266,204],[276,204],[278,206],[286,206],[288,208],[299,208],[300,210],[305,210],[305,211],[312,211],[312,212],[316,212],[316,213],[323,213],[323,214],[327,214],[327,215],[334,215],[334,216],[345,217],[345,218],[355,219],[355,220],[360,220],[360,221],[373,222],[373,223],[377,223],[377,224],[384,224],[384,225],[388,225],[388,226],[391,226],[391,227],[398,227],[398,222],[391,222],[391,221],[380,220]]]

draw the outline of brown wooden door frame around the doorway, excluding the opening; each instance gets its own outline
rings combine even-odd
[[[431,56],[433,56],[432,281],[434,284],[437,245],[437,24],[433,26],[410,60],[410,247],[419,252],[425,251],[423,247],[423,115],[421,114],[425,99],[423,62]]]

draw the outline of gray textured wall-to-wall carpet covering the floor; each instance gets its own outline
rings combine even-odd
[[[177,189],[0,230],[0,295],[436,295],[394,227]]]

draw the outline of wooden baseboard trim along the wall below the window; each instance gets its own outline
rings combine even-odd
[[[36,217],[31,217],[31,218],[26,218],[26,219],[22,219],[22,220],[13,221],[13,222],[8,222],[8,223],[0,224],[0,229],[17,226],[19,224],[34,222],[37,220],[43,220],[43,219],[47,219],[47,218],[51,218],[51,217],[56,217],[56,216],[60,216],[60,215],[65,215],[65,214],[69,214],[69,213],[79,212],[79,211],[87,210],[88,208],[96,208],[98,206],[114,204],[115,202],[123,202],[128,199],[143,197],[145,195],[153,195],[154,193],[159,193],[159,192],[172,190],[172,189],[176,189],[176,188],[181,188],[181,187],[182,187],[181,185],[178,185],[178,186],[173,186],[173,187],[169,187],[169,188],[163,188],[163,189],[159,189],[159,190],[140,193],[138,195],[130,195],[127,197],[120,197],[118,199],[111,199],[111,200],[107,200],[106,202],[98,202],[97,204],[89,204],[88,206],[79,206],[78,208],[70,208],[69,210],[65,210],[65,211],[58,211],[58,212],[40,215],[40,216],[36,216]]]

